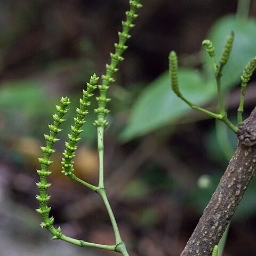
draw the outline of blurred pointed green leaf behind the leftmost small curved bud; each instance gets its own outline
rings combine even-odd
[[[215,81],[205,81],[198,71],[180,68],[181,93],[193,103],[202,105],[216,93]],[[171,90],[169,75],[164,73],[151,82],[134,103],[129,123],[121,134],[124,141],[154,131],[190,111],[190,107]]]

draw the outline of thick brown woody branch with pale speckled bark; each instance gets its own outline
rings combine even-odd
[[[180,256],[209,256],[218,244],[256,169],[256,108],[239,127],[238,146]]]

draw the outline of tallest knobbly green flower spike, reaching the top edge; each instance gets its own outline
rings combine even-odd
[[[108,122],[105,120],[106,115],[109,113],[106,106],[110,101],[110,99],[107,98],[107,91],[109,85],[115,81],[114,74],[118,71],[118,63],[124,60],[122,54],[128,48],[125,43],[127,39],[131,38],[129,31],[135,26],[133,20],[138,17],[136,12],[142,7],[140,2],[141,0],[130,0],[130,11],[125,13],[126,21],[122,21],[123,31],[118,32],[119,42],[115,43],[115,53],[110,53],[110,65],[106,65],[106,75],[102,75],[102,85],[99,85],[100,97],[96,98],[98,101],[98,108],[94,110],[94,112],[97,113],[97,120],[94,122],[94,125],[97,127],[106,127],[108,125]]]

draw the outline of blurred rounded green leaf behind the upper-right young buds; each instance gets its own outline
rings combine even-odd
[[[233,50],[231,51],[227,65],[223,68],[222,84],[226,89],[240,83],[240,76],[246,64],[256,55],[256,20],[247,21],[237,19],[235,15],[229,15],[218,20],[209,33],[215,47],[216,61],[219,63],[226,38],[231,31],[235,33]],[[205,52],[205,50],[204,50]],[[209,77],[213,76],[212,63],[205,52],[205,71]]]

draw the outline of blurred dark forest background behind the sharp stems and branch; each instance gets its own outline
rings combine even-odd
[[[213,71],[202,51],[210,37],[220,55],[235,31],[223,87],[231,119],[239,76],[256,53],[256,3],[250,19],[230,0],[148,0],[131,31],[125,61],[109,96],[106,189],[131,256],[177,256],[226,170],[236,137],[221,123],[190,110],[171,91],[168,54],[177,51],[180,84],[201,106],[217,106]],[[247,2],[242,0],[240,3]],[[243,5],[243,4],[242,4]],[[1,256],[114,255],[51,241],[34,209],[37,157],[59,98],[72,101],[59,134],[49,194],[55,225],[90,242],[114,243],[101,199],[60,173],[60,158],[82,89],[101,75],[114,51],[128,0],[0,1],[0,254]],[[248,86],[247,115],[255,106],[256,77]],[[92,103],[95,106],[95,102]],[[75,158],[75,172],[97,182],[93,107]],[[256,180],[231,222],[226,256],[256,254]]]

